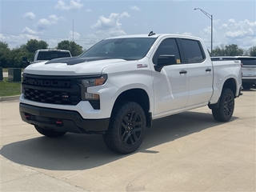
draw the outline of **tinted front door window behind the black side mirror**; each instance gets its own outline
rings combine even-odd
[[[181,56],[179,54],[177,42],[174,38],[167,38],[163,40],[158,46],[158,50],[156,50],[154,57],[153,57],[153,63],[158,64],[158,57],[162,54],[169,54],[174,55],[176,58],[177,63],[181,63]]]

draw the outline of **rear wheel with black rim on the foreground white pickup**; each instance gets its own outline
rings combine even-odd
[[[218,108],[212,109],[214,119],[218,122],[228,122],[234,113],[234,94],[232,90],[224,88],[219,100]]]

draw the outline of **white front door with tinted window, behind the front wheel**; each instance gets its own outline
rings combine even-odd
[[[187,65],[182,64],[178,44],[175,38],[163,39],[152,58],[158,65],[158,56],[174,55],[177,64],[164,66],[161,71],[154,71],[154,116],[162,117],[186,106],[188,100]]]

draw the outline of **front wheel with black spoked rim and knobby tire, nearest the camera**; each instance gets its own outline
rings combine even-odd
[[[106,146],[118,154],[130,154],[142,144],[146,116],[137,102],[121,102],[114,107],[110,126],[103,134]]]

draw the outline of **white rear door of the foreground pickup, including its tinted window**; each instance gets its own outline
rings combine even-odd
[[[209,102],[213,93],[212,62],[206,59],[201,42],[193,39],[180,39],[188,66],[188,102],[186,107],[200,106]]]

